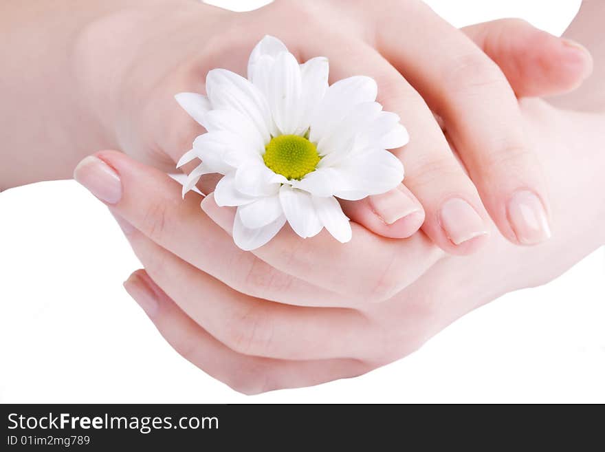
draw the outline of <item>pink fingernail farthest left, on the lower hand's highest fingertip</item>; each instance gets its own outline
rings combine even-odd
[[[74,179],[100,200],[115,204],[122,199],[120,176],[107,163],[89,155],[74,169]]]

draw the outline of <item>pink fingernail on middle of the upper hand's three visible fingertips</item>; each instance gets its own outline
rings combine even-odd
[[[441,206],[439,222],[445,235],[454,245],[463,244],[480,235],[486,235],[483,219],[465,200],[454,197]]]

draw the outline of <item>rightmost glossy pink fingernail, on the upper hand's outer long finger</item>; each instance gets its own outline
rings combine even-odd
[[[544,206],[540,198],[531,191],[518,191],[511,197],[508,221],[520,244],[535,245],[551,237]]]

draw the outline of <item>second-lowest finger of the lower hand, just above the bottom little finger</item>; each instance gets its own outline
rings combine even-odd
[[[149,277],[168,297],[236,352],[287,359],[360,358],[366,352],[371,354],[371,350],[364,350],[364,344],[370,343],[371,328],[358,311],[307,308],[246,297],[142,233],[133,231],[129,241]]]

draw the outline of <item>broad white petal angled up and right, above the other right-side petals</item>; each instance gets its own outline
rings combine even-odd
[[[373,78],[354,76],[343,78],[328,88],[320,107],[311,119],[312,142],[318,142],[360,103],[376,100],[378,87]],[[212,100],[212,99],[211,99]]]

